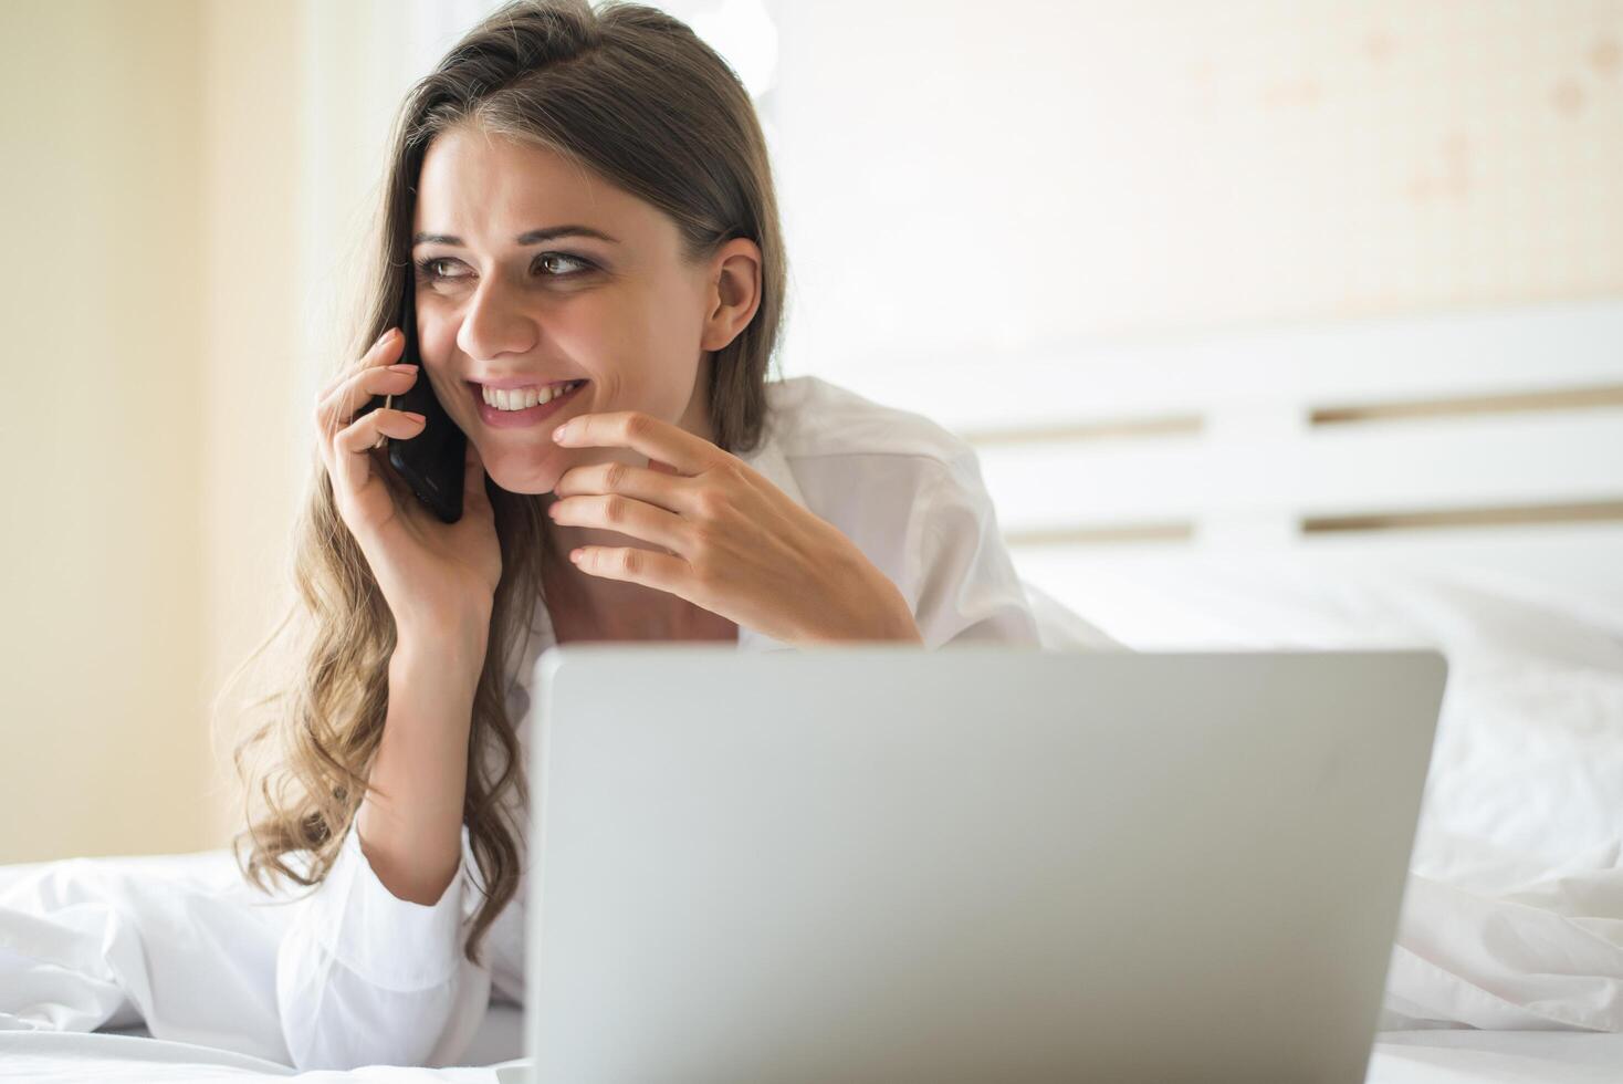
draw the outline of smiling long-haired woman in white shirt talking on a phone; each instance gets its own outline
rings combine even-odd
[[[549,644],[1037,644],[967,445],[768,381],[766,148],[682,23],[493,13],[406,102],[380,242],[373,346],[316,406],[300,677],[245,743],[271,766],[239,750],[265,802],[245,871],[315,886],[276,967],[299,1068],[448,1065],[492,987],[521,1001],[523,717]],[[407,282],[420,370],[388,328]],[[420,417],[357,417],[417,380],[467,435],[450,526],[377,450]]]

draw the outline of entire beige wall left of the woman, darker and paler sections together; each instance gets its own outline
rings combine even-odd
[[[206,703],[294,488],[294,16],[0,5],[0,862],[224,839]]]

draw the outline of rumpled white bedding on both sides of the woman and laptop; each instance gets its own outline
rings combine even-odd
[[[1443,647],[1449,688],[1370,1081],[1623,1081],[1623,628],[1397,568],[1186,561],[1084,587],[1066,600],[1134,647]],[[289,914],[258,901],[224,850],[0,867],[0,1079],[292,1074],[255,980]],[[156,1039],[88,1034],[143,1022]],[[514,1056],[513,1034],[479,1056]]]

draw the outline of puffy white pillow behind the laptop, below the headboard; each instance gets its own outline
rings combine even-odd
[[[1134,649],[1435,646],[1449,660],[1414,868],[1446,836],[1556,868],[1623,841],[1623,625],[1485,574],[1399,561],[1186,557],[1055,587]]]

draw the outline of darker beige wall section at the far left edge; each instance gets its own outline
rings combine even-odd
[[[196,3],[8,3],[0,42],[0,860],[193,847]]]

